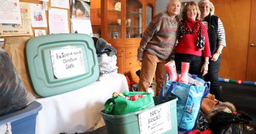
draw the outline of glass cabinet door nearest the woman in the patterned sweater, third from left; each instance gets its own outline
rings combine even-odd
[[[142,3],[136,0],[126,1],[126,39],[142,37]]]

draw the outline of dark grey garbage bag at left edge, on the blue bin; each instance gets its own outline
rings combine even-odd
[[[0,48],[0,116],[35,101],[18,77],[10,56]]]

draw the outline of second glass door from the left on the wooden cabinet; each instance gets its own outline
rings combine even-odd
[[[121,39],[121,0],[107,1],[108,39]]]

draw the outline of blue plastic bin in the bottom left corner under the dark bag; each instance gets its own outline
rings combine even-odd
[[[11,123],[12,134],[34,134],[36,116],[42,106],[33,101],[23,109],[0,116],[0,126]]]

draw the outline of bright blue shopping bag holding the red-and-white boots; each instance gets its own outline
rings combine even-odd
[[[195,85],[195,83],[183,84],[181,82],[173,82],[167,79],[169,88],[162,86],[158,102],[161,102],[163,94],[166,98],[174,95],[178,98],[177,101],[177,123],[179,133],[187,133],[192,131],[196,124],[196,118],[200,111],[202,99],[209,93],[210,82],[205,82],[196,75],[188,75],[190,78],[201,82],[202,86]],[[166,84],[165,84],[166,85]]]

